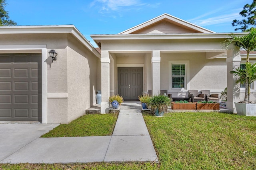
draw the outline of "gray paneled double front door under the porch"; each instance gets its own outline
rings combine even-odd
[[[118,94],[124,100],[138,100],[143,92],[143,67],[118,67]]]

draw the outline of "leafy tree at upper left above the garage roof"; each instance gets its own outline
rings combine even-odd
[[[13,20],[10,20],[9,12],[4,10],[5,6],[6,6],[5,0],[0,0],[0,26],[17,25],[16,22],[14,22]]]

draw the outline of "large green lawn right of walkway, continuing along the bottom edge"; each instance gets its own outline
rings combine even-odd
[[[158,154],[159,164],[100,162],[0,164],[0,167],[10,170],[256,169],[256,117],[216,112],[180,112],[166,113],[164,117],[145,114],[144,119]],[[94,124],[97,125],[97,122]]]

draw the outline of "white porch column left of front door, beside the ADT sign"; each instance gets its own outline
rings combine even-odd
[[[110,59],[108,51],[101,51],[101,104],[100,113],[108,113],[110,95]]]

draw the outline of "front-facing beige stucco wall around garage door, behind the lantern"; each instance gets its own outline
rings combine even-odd
[[[0,45],[46,45],[47,51],[54,49],[57,60],[47,53],[47,93],[67,93],[67,34],[1,34]],[[67,122],[67,98],[47,98],[47,123]],[[45,113],[42,113],[45,114]]]

